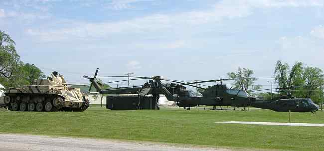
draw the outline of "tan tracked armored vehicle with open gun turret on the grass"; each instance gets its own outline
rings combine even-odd
[[[67,87],[62,75],[52,72],[47,79],[33,85],[7,88],[4,104],[11,111],[85,111],[89,99],[78,88]]]

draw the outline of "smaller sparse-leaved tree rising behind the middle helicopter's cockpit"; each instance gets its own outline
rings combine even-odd
[[[235,79],[234,87],[236,89],[245,90],[250,92],[251,90],[257,90],[261,88],[261,85],[254,85],[257,79],[253,78],[253,70],[240,67],[237,72],[227,73],[230,79]]]

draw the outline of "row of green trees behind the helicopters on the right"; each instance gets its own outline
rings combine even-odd
[[[228,78],[234,80],[234,88],[245,90],[251,93],[253,90],[259,90],[261,85],[255,85],[254,72],[247,68],[238,68],[236,72],[227,73]],[[287,95],[291,93],[297,98],[311,98],[315,102],[319,102],[323,98],[324,74],[318,67],[306,66],[305,63],[296,61],[290,67],[288,63],[278,60],[275,66],[274,79],[277,87],[273,95]],[[288,91],[289,90],[289,91]],[[252,93],[258,96],[271,96],[270,93]]]

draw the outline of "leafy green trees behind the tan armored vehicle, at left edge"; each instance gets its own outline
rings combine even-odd
[[[23,63],[15,50],[15,42],[0,30],[0,83],[4,87],[32,84],[34,79],[45,78],[34,64]]]

